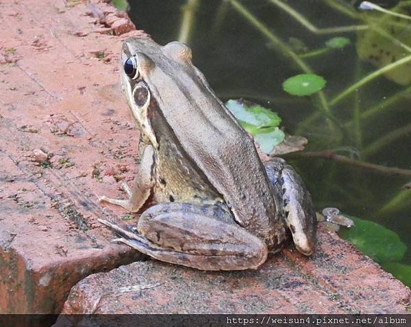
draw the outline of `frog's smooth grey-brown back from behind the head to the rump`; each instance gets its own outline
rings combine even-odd
[[[197,176],[207,181],[208,189],[223,196],[236,222],[264,239],[269,248],[282,244],[286,239],[282,212],[253,140],[214,93],[210,96],[210,89],[199,92],[199,86],[201,83],[181,95],[173,94],[181,91],[175,88],[156,97],[166,124],[190,158],[190,166],[201,172]],[[182,109],[175,110],[176,106]],[[184,168],[175,169],[184,174]]]

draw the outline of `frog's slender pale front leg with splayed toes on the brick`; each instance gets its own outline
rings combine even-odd
[[[154,185],[153,180],[154,165],[154,148],[148,145],[142,153],[140,165],[138,166],[138,176],[134,181],[134,189],[130,189],[127,183],[123,183],[123,189],[127,193],[127,200],[118,200],[100,196],[99,202],[109,202],[113,205],[119,205],[131,212],[137,212],[145,204],[150,196],[151,188]]]

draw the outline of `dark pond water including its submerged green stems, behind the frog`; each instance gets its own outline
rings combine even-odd
[[[352,163],[411,169],[411,66],[404,59],[411,54],[411,21],[359,12],[358,1],[129,2],[138,29],[160,44],[182,40],[190,45],[193,62],[221,99],[260,103],[283,118],[288,133],[308,139],[310,157],[294,155],[288,161],[306,181],[316,209],[338,207],[393,231],[387,235],[366,225],[369,233],[358,236],[357,243],[364,238],[371,251],[385,253],[384,259],[374,257],[410,285],[411,189],[404,188],[410,171],[386,174]],[[410,2],[392,9],[410,14]],[[335,37],[351,43],[325,49]],[[398,60],[406,63],[390,70],[389,77],[377,73]],[[326,79],[321,94],[298,97],[282,90],[285,79],[307,72]],[[324,159],[323,151],[353,162]]]

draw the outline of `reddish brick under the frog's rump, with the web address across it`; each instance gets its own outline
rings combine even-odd
[[[63,313],[407,313],[409,300],[408,287],[321,228],[312,258],[288,249],[256,271],[149,260],[90,275]]]

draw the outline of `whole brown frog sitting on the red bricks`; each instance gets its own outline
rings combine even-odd
[[[299,175],[282,159],[263,164],[251,137],[217,98],[180,42],[129,38],[121,84],[140,137],[128,200],[133,230],[100,220],[149,256],[200,270],[256,269],[289,235],[299,252],[316,244],[316,215]],[[137,142],[136,142],[137,143]]]

